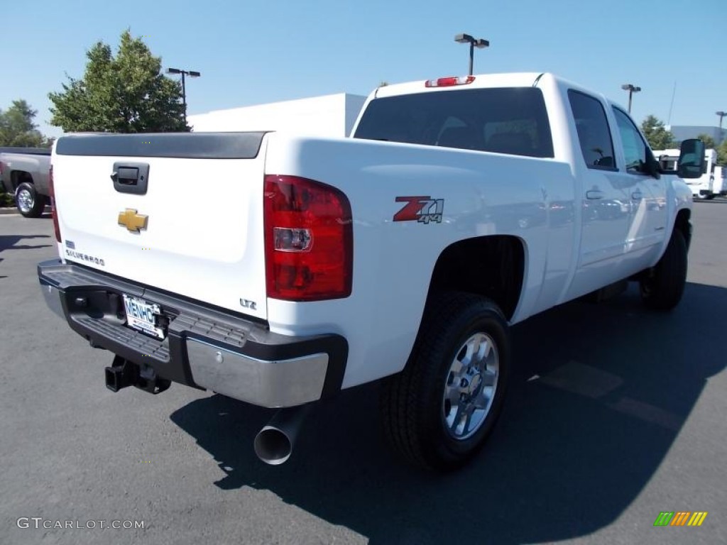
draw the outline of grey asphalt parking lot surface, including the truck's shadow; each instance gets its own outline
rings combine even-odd
[[[318,406],[280,467],[252,449],[272,411],[178,385],[114,394],[111,354],[43,302],[50,219],[0,216],[0,543],[727,543],[727,201],[693,222],[675,312],[634,286],[515,326],[502,421],[438,476],[391,456],[376,384]],[[654,527],[663,511],[709,514]]]

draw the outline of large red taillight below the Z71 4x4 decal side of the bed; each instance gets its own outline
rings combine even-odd
[[[351,294],[351,206],[340,190],[296,176],[265,176],[268,297],[288,301]]]

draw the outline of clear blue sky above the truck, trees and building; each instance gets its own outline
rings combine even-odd
[[[198,70],[188,113],[467,73],[457,33],[489,39],[475,73],[548,71],[625,103],[637,121],[718,124],[727,110],[727,0],[6,0],[0,108],[23,98],[47,125],[48,92],[81,78],[85,52],[131,28],[164,67]]]

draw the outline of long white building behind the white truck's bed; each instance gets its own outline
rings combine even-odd
[[[187,116],[193,132],[285,131],[322,137],[348,136],[366,97],[323,97],[271,102]]]

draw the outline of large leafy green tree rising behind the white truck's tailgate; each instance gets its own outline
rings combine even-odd
[[[86,53],[82,79],[68,77],[63,92],[49,93],[51,124],[66,132],[184,132],[182,87],[161,74],[161,57],[151,55],[130,31],[121,34],[116,57],[97,42]]]

